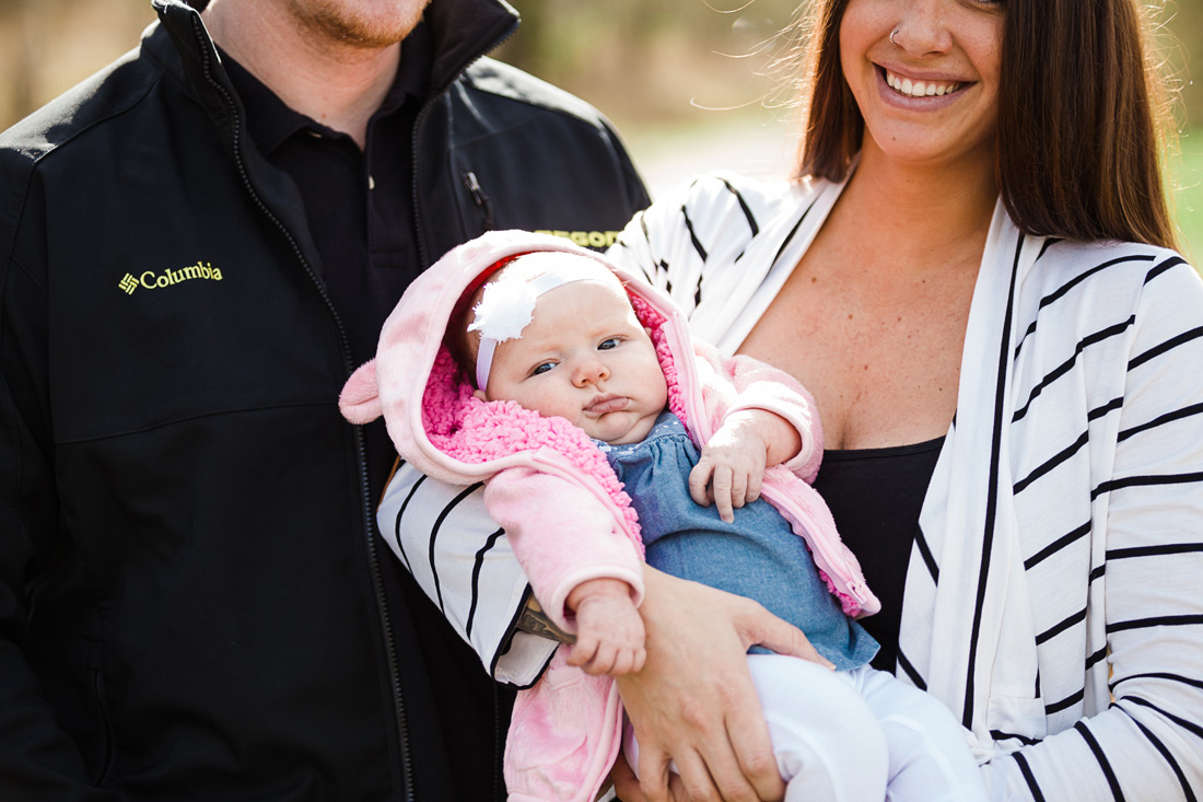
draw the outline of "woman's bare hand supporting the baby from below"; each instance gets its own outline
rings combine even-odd
[[[623,802],[780,800],[769,730],[747,670],[759,643],[830,666],[798,629],[741,596],[645,568],[647,662],[618,677],[639,741],[639,780],[616,768]],[[676,762],[670,796],[669,761]],[[636,794],[638,791],[638,794]]]

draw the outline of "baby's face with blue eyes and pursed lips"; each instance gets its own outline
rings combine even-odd
[[[567,418],[616,444],[646,437],[668,403],[656,348],[617,281],[540,295],[522,336],[498,343],[488,387],[476,394]]]

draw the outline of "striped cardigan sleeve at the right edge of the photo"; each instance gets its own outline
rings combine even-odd
[[[984,766],[997,800],[1195,800],[1203,792],[1203,283],[1149,271],[1130,338],[1090,605],[1106,611],[1110,704]],[[1100,523],[1096,520],[1096,527]]]

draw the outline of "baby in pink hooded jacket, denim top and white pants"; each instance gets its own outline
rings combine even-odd
[[[645,549],[755,598],[837,670],[748,655],[787,800],[984,798],[952,714],[867,666],[854,619],[878,603],[804,480],[822,452],[808,395],[691,342],[651,287],[555,237],[486,235],[414,283],[340,403],[384,414],[423,472],[482,479],[537,598],[575,632],[518,694],[510,800],[593,800],[620,741],[638,766],[611,677],[644,662]]]

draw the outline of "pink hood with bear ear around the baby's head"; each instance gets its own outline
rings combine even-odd
[[[692,354],[680,311],[640,278],[610,264],[602,254],[571,241],[529,231],[491,231],[448,252],[405,290],[385,320],[375,359],[360,367],[339,396],[339,409],[354,424],[384,417],[397,453],[423,473],[452,484],[470,484],[506,467],[525,465],[521,454],[482,461],[449,453],[475,405],[472,385],[443,346],[448,322],[468,288],[500,261],[533,252],[582,255],[612,270],[628,284],[640,318],[660,322],[666,350]],[[663,361],[663,360],[662,360]],[[497,403],[497,402],[493,402]]]

